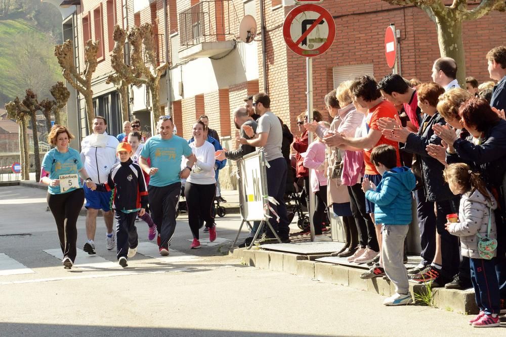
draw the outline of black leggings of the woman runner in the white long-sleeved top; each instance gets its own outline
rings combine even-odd
[[[216,184],[192,184],[185,183],[185,198],[188,207],[188,223],[193,238],[198,240],[199,218],[205,221],[206,227],[212,227],[215,223],[213,203],[216,196]]]

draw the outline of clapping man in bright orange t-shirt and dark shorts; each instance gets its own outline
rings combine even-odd
[[[361,76],[356,78],[350,87],[350,91],[353,95],[353,103],[363,108],[367,108],[367,114],[365,115],[361,130],[357,130],[357,137],[346,137],[341,134],[327,134],[327,136],[323,138],[323,141],[331,147],[337,146],[340,149],[345,150],[363,151],[365,162],[364,179],[369,179],[374,183],[374,185],[377,186],[381,181],[382,176],[378,173],[374,164],[372,164],[370,161],[372,149],[382,144],[393,146],[397,152],[397,166],[401,166],[399,157],[399,143],[389,140],[383,136],[382,131],[379,130],[379,127],[377,125],[377,122],[380,118],[395,118],[395,116],[397,116],[397,109],[392,103],[383,100],[382,94],[377,88],[376,81],[370,76]],[[374,204],[366,200],[365,209],[374,221]],[[379,251],[381,252],[381,224],[376,224],[375,232]],[[368,234],[371,235],[374,233]],[[355,258],[353,262],[367,263],[373,261],[377,256],[377,251],[367,247],[365,252],[363,252],[361,256]],[[384,275],[383,273],[384,269],[382,261],[379,259],[379,265],[373,266],[369,272],[362,274],[362,278],[382,276]]]

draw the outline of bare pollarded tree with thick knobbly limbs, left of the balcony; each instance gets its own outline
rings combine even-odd
[[[124,63],[123,47],[126,39],[132,47],[131,65]],[[120,91],[120,87],[124,92],[130,84],[146,85],[151,95],[153,118],[158,120],[162,115],[159,95],[160,78],[168,68],[168,63],[164,62],[158,65],[153,26],[150,23],[145,23],[140,27],[132,27],[128,34],[119,26],[115,26],[114,41],[111,66],[116,74],[109,76],[109,81],[116,84],[118,91]],[[128,105],[128,102],[125,103],[124,100],[122,102],[122,106]]]

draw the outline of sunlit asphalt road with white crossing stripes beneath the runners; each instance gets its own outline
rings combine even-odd
[[[172,246],[180,253],[167,258],[157,256],[147,225],[138,222],[142,254],[125,269],[106,250],[99,219],[97,256],[78,255],[81,266],[68,271],[56,257],[44,190],[0,187],[0,214],[0,336],[506,335],[504,324],[472,328],[470,317],[456,313],[387,308],[371,293],[243,266],[224,256],[237,215],[218,219],[222,243],[200,250],[189,249],[181,216]]]

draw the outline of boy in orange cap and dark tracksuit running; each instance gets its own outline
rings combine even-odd
[[[116,211],[117,258],[121,267],[128,266],[128,258],[137,253],[139,244],[135,218],[143,216],[148,204],[148,191],[141,167],[135,164],[130,155],[129,143],[120,142],[116,154],[120,160],[114,164],[107,177],[107,183],[90,183],[91,189],[98,191],[114,190],[114,209]]]

